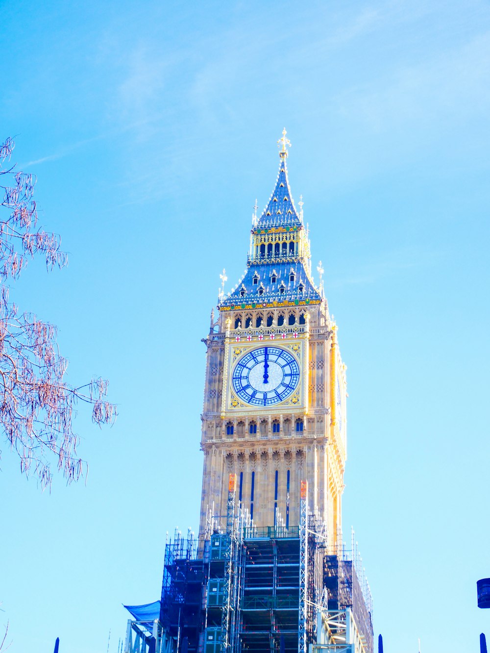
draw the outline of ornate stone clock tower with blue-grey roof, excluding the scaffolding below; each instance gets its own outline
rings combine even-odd
[[[200,539],[226,516],[228,479],[255,526],[298,526],[300,483],[309,512],[329,541],[341,532],[346,460],[346,379],[337,327],[328,312],[321,264],[311,271],[303,202],[296,208],[279,140],[279,174],[260,217],[254,215],[247,267],[221,291],[207,347]],[[224,273],[222,275],[224,281]]]

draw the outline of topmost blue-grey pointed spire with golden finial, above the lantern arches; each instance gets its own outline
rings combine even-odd
[[[286,167],[288,150],[286,146],[290,146],[291,144],[289,139],[286,138],[286,129],[283,129],[283,138],[280,138],[277,142],[280,148],[279,158],[281,159],[277,182],[275,183],[275,189],[269,199],[268,205],[256,225],[254,225],[253,231],[269,229],[270,227],[303,226],[303,220],[301,219],[301,215],[296,211],[289,187],[288,168]]]

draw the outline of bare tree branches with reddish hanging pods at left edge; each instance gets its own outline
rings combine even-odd
[[[12,138],[0,145],[0,181],[5,181],[0,183],[5,209],[0,217],[0,424],[21,473],[35,475],[44,489],[52,484],[52,461],[68,483],[87,472],[72,428],[78,402],[91,405],[92,421],[99,425],[112,424],[117,410],[106,400],[108,381],[65,383],[67,360],[59,353],[56,327],[31,313],[20,315],[8,301],[5,282],[18,279],[29,257],[44,255],[48,270],[67,264],[61,238],[37,229],[33,176],[15,166],[3,169],[13,149]]]

